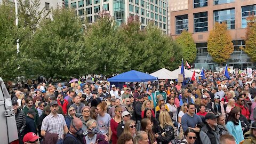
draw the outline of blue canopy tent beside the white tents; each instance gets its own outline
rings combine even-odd
[[[140,71],[131,70],[123,74],[108,78],[109,82],[147,82],[157,81],[157,77],[142,73]]]

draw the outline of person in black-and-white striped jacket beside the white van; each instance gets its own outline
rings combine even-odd
[[[15,119],[17,124],[18,136],[19,136],[19,143],[23,143],[23,131],[26,127],[26,117],[22,110],[19,108],[19,104],[16,100],[12,100],[12,108],[14,109]]]

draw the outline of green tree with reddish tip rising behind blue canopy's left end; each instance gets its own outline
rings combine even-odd
[[[91,73],[110,75],[127,69],[130,54],[127,47],[121,45],[122,37],[118,34],[115,21],[106,13],[87,27],[85,44],[91,55]]]

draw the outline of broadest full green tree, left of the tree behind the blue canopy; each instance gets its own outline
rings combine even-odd
[[[81,19],[72,9],[52,11],[51,19],[43,19],[35,31],[26,53],[34,66],[33,74],[67,77],[87,73],[86,47]]]

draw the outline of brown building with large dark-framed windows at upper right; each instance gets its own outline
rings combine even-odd
[[[250,58],[239,46],[246,31],[246,18],[256,12],[255,0],[170,0],[170,35],[175,38],[182,30],[193,34],[197,47],[196,68],[215,69],[211,55],[207,52],[207,39],[214,22],[226,22],[233,39],[234,52],[227,64],[234,68],[255,67]]]

